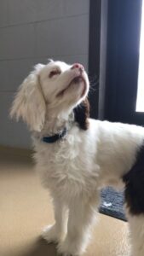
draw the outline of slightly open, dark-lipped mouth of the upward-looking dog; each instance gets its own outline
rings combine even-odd
[[[84,90],[82,91],[82,95],[81,97],[84,96],[85,94],[85,91],[86,91],[86,82],[85,82],[85,79],[83,76],[78,76],[74,79],[72,79],[72,81],[70,82],[70,84],[68,84],[68,86],[66,86],[66,88],[64,90],[60,90],[60,92],[57,94],[57,96],[64,96],[64,94],[66,93],[67,90],[70,89],[70,87],[73,85],[73,84],[81,84],[83,83],[84,84]]]

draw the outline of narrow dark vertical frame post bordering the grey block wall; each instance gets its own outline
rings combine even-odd
[[[89,5],[89,80],[94,90],[89,93],[90,117],[98,118],[99,76],[101,47],[101,0],[90,0]],[[93,82],[94,81],[94,82]]]

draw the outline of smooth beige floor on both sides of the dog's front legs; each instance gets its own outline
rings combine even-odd
[[[0,151],[0,256],[55,256],[55,245],[40,238],[53,222],[49,195],[26,156]],[[99,214],[84,256],[127,256],[128,225]]]

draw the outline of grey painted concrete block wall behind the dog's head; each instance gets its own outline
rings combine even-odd
[[[47,58],[88,67],[89,0],[0,1],[0,145],[29,148],[23,123],[9,120],[14,92]]]

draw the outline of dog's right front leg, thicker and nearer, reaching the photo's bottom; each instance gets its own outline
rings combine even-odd
[[[84,253],[89,242],[90,227],[94,223],[98,201],[83,198],[74,199],[69,206],[67,236],[58,246],[58,252],[65,256]]]

